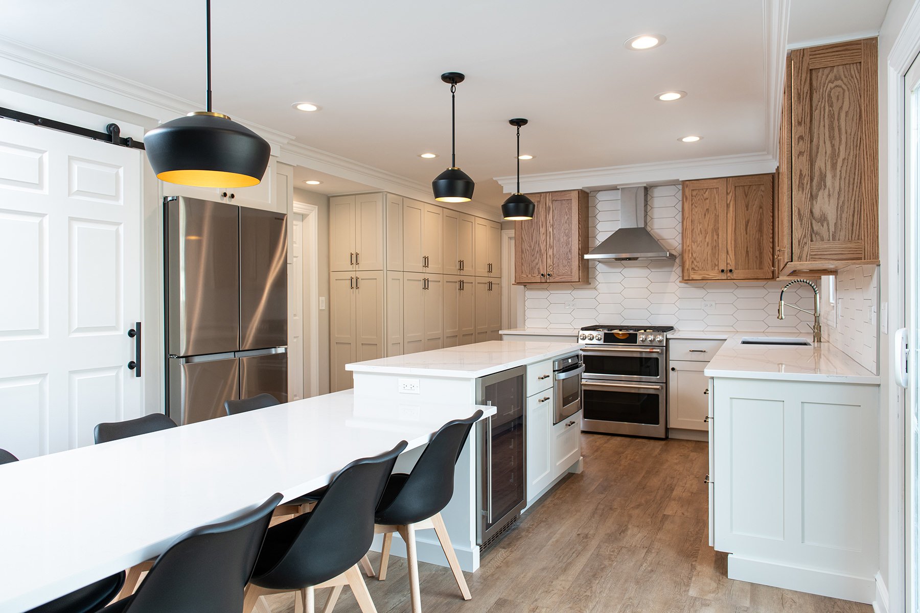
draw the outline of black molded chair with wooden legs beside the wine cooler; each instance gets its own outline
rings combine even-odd
[[[447,534],[447,527],[441,517],[441,511],[454,496],[454,467],[460,458],[460,451],[466,444],[472,429],[482,411],[477,411],[466,419],[447,422],[438,430],[428,447],[422,451],[419,460],[408,474],[397,472],[386,483],[384,495],[377,506],[374,518],[374,531],[384,535],[384,545],[380,556],[380,572],[377,578],[386,578],[386,564],[389,561],[390,544],[393,533],[406,541],[408,556],[408,579],[411,591],[412,610],[421,611],[419,591],[419,560],[415,547],[415,531],[434,528],[441,541],[441,548],[447,562],[454,572],[454,579],[465,600],[473,596],[466,585],[460,562],[457,561],[454,546]]]

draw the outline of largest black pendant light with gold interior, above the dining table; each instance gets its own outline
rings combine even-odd
[[[211,0],[207,23],[207,110],[167,121],[146,133],[144,145],[156,177],[198,187],[258,185],[270,146],[254,131],[211,110]]]

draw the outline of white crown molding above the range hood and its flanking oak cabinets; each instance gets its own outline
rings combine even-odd
[[[610,189],[627,184],[670,183],[716,176],[765,175],[776,171],[776,156],[771,153],[744,153],[694,160],[675,160],[653,164],[586,168],[557,173],[521,176],[523,192],[564,189]],[[505,193],[515,190],[516,176],[496,176]]]

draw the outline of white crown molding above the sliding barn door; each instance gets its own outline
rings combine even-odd
[[[6,37],[0,37],[0,74],[88,102],[136,113],[158,123],[201,108],[201,104],[192,100]],[[274,149],[293,139],[291,134],[246,119],[235,120],[258,132],[274,145]]]

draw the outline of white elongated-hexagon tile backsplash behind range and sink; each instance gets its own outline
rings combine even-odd
[[[805,313],[789,309],[785,320],[776,319],[779,289],[783,286],[780,281],[682,283],[680,184],[649,187],[647,202],[646,227],[678,254],[676,261],[589,260],[586,285],[527,286],[525,318],[528,328],[670,324],[683,330],[714,332],[811,331],[811,316]],[[592,248],[619,228],[619,190],[592,192],[588,215],[588,244]],[[836,340],[832,338],[832,342],[857,361],[865,358],[866,362],[860,361],[864,365],[868,364],[871,355],[871,369],[874,370],[874,326],[870,329],[863,321],[866,307],[862,300],[874,303],[878,289],[866,288],[867,282],[875,287],[874,276],[870,276],[870,281],[866,279],[863,273],[854,273],[852,280],[839,286],[838,295],[844,300],[842,304],[847,313],[845,321],[855,330],[852,331],[854,340],[846,346],[843,328],[837,328],[840,336],[835,337]],[[857,286],[860,289],[856,289]],[[813,293],[803,285],[789,289],[786,297],[788,303],[802,309],[812,308]],[[567,306],[569,302],[575,302],[574,308]],[[857,348],[864,350],[857,352]]]

